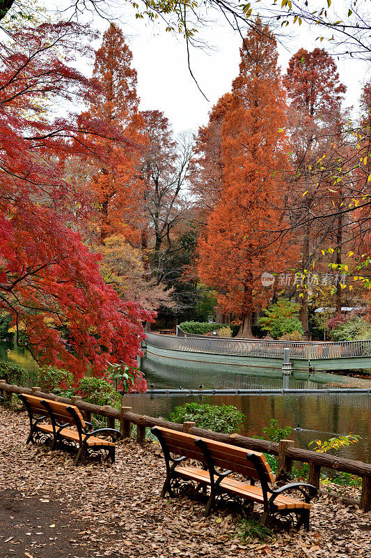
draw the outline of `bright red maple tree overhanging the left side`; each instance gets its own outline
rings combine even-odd
[[[74,232],[64,160],[88,156],[91,137],[110,132],[98,118],[48,112],[98,92],[71,63],[81,33],[77,24],[42,24],[0,47],[0,308],[18,345],[75,377],[102,372],[107,360],[135,364],[149,319],[104,283],[100,257]]]

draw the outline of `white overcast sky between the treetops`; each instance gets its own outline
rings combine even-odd
[[[68,0],[62,0],[68,1]],[[42,2],[43,3],[43,2]],[[242,43],[237,32],[226,22],[210,24],[200,33],[213,48],[192,49],[191,68],[200,88],[209,101],[198,91],[187,67],[187,52],[181,36],[166,33],[163,26],[134,18],[134,10],[127,6],[119,24],[133,53],[133,66],[138,73],[138,93],[141,110],[161,110],[168,117],[175,133],[182,130],[197,131],[207,123],[208,112],[216,101],[230,91],[232,80],[239,70],[239,47]],[[107,22],[95,17],[93,27],[104,31]],[[283,73],[287,63],[300,47],[313,50],[326,48],[315,38],[317,29],[303,25],[290,27],[292,37],[278,45],[279,62]],[[97,47],[100,41],[97,42]],[[336,59],[340,80],[347,86],[346,106],[357,108],[362,85],[371,79],[367,64],[356,59]]]

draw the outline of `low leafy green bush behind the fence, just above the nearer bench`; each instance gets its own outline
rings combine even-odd
[[[170,420],[175,423],[194,421],[198,428],[207,428],[214,432],[230,434],[241,428],[244,415],[233,405],[186,403],[180,407],[175,407]]]

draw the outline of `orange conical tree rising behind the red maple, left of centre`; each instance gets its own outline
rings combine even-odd
[[[137,172],[140,144],[144,140],[140,133],[136,70],[132,68],[132,52],[123,31],[115,24],[110,24],[97,50],[93,78],[100,85],[100,95],[84,117],[99,118],[111,130],[111,139],[98,141],[104,152],[104,164],[90,183],[97,209],[95,228],[100,243],[104,243],[111,234],[126,238],[135,234],[138,200],[143,197],[143,183]]]

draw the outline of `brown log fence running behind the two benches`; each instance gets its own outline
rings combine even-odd
[[[115,421],[120,422],[120,432],[123,438],[127,438],[132,433],[132,425],[136,425],[136,439],[138,442],[145,441],[145,428],[152,426],[162,426],[170,428],[171,430],[187,431],[189,434],[200,436],[204,438],[214,439],[217,442],[224,444],[232,444],[246,449],[262,451],[270,455],[278,456],[278,474],[290,473],[292,470],[292,462],[300,461],[308,463],[309,465],[309,482],[319,488],[319,478],[321,467],[333,469],[338,472],[346,472],[361,476],[362,489],[361,489],[361,502],[358,504],[364,511],[371,510],[371,464],[363,461],[339,458],[327,453],[317,453],[294,447],[292,440],[281,440],[278,442],[270,442],[269,440],[250,438],[239,434],[222,434],[219,432],[212,432],[203,428],[196,428],[196,423],[172,423],[165,421],[164,418],[155,418],[153,416],[140,415],[132,412],[132,407],[121,407],[120,410],[113,409],[109,406],[93,405],[86,401],[81,400],[79,397],[72,397],[71,399],[63,398],[54,393],[43,393],[40,387],[35,386],[31,389],[13,386],[6,384],[0,379],[0,392],[3,393],[5,401],[11,405],[13,393],[28,393],[36,397],[57,400],[63,403],[71,403],[76,405],[84,412],[86,420],[90,421],[92,414],[104,416],[107,418],[107,423],[110,428],[113,428]]]

